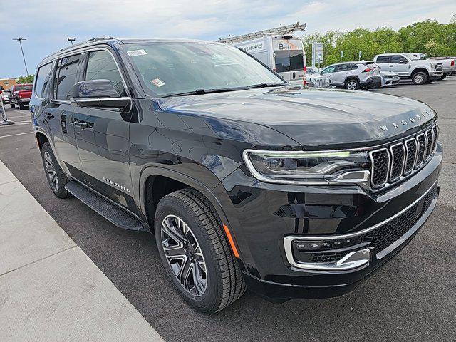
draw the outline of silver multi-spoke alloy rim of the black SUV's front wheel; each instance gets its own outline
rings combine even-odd
[[[167,215],[162,221],[162,248],[180,285],[194,296],[207,289],[206,261],[198,240],[180,217]]]

